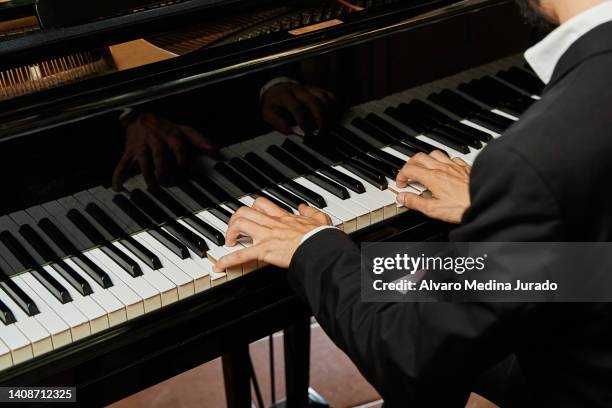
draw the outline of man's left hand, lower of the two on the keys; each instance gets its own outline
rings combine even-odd
[[[253,240],[253,245],[218,259],[215,271],[253,260],[289,267],[304,235],[320,226],[331,225],[329,216],[316,208],[303,204],[299,212],[300,215],[290,214],[262,197],[251,208],[239,208],[229,221],[225,244],[234,246],[240,237],[246,236]]]

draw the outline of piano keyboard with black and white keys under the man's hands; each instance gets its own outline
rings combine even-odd
[[[227,247],[224,233],[257,195],[318,207],[347,233],[396,216],[406,160],[440,149],[472,163],[542,88],[508,59],[355,107],[324,140],[270,133],[230,146],[182,185],[136,177],[121,194],[98,186],[0,217],[0,369],[262,267],[212,271],[250,245]]]

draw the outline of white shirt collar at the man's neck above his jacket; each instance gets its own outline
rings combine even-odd
[[[544,83],[552,78],[557,63],[580,37],[612,21],[612,1],[606,1],[567,20],[525,53],[525,59]]]

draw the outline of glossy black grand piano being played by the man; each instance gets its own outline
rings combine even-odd
[[[264,195],[358,242],[444,239],[394,205],[394,175],[432,149],[471,163],[516,121],[543,88],[520,57],[535,36],[511,0],[0,2],[0,386],[101,406],[222,355],[248,371],[248,343],[290,328],[303,406],[309,312],[282,270],[212,271],[235,250],[228,218]],[[260,90],[277,78],[330,90],[341,114],[274,131]],[[140,115],[219,150],[113,191]],[[233,406],[250,399],[238,374]]]

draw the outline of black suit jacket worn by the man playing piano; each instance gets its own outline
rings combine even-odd
[[[612,238],[612,23],[579,39],[541,101],[474,163],[456,241]],[[323,231],[288,274],[329,336],[389,406],[464,406],[473,380],[514,353],[534,406],[612,406],[608,304],[360,301],[360,251]]]

